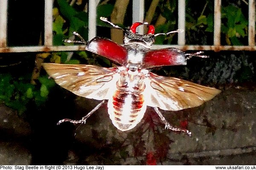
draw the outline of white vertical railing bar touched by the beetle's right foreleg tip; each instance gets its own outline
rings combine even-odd
[[[185,45],[185,23],[186,23],[186,2],[185,0],[178,0],[178,29],[184,30],[181,33],[178,33],[178,45]]]

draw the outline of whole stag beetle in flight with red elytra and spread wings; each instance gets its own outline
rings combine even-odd
[[[118,29],[119,26],[109,22]],[[81,120],[63,119],[58,122],[85,123],[86,119],[108,100],[108,114],[113,125],[122,131],[131,130],[143,119],[147,106],[153,107],[167,129],[186,132],[189,130],[176,128],[166,121],[160,109],[178,111],[192,108],[212,99],[220,91],[197,85],[174,77],[161,77],[151,73],[146,68],[165,65],[186,65],[186,59],[196,54],[185,54],[177,48],[150,50],[154,38],[169,33],[154,34],[154,26],[148,26],[148,34],[137,34],[136,28],[148,23],[134,23],[130,30],[125,30],[124,45],[95,37],[86,42],[74,32],[81,41],[66,40],[66,42],[81,42],[86,44],[85,50],[106,57],[121,66],[102,68],[93,65],[62,65],[44,63],[47,73],[63,88],[78,96],[102,100],[92,111]],[[200,56],[205,57],[205,56]]]

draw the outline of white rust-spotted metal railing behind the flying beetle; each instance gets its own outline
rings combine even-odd
[[[96,37],[96,7],[99,0],[89,0],[89,32],[88,40]],[[49,51],[79,51],[84,45],[52,46],[52,7],[53,0],[45,0],[44,45],[7,47],[7,4],[8,0],[0,0],[0,53],[8,52],[49,52]],[[248,45],[221,45],[221,0],[214,0],[214,42],[213,45],[186,45],[185,41],[185,0],[178,0],[178,29],[185,30],[178,34],[177,45],[154,45],[153,48],[176,47],[186,50],[244,50],[256,51],[255,45],[255,0],[249,0]],[[143,21],[144,0],[133,0],[133,22]],[[142,30],[139,30],[141,32]]]

